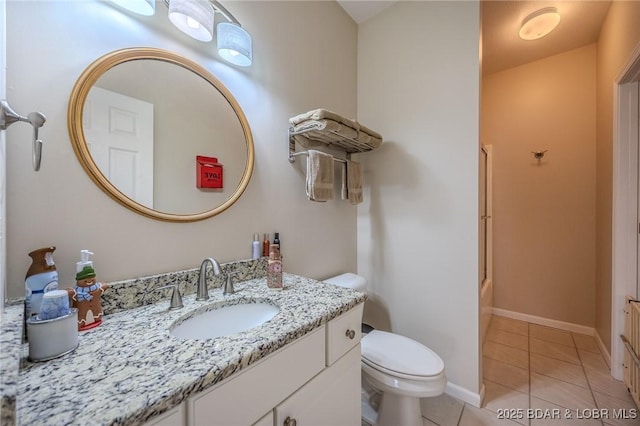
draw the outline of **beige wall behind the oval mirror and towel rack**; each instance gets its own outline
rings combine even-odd
[[[72,283],[81,249],[95,252],[103,281],[193,268],[208,256],[251,256],[255,232],[281,233],[285,270],[324,278],[356,269],[356,208],[312,203],[304,164],[289,164],[288,117],[325,107],[356,115],[355,23],[335,2],[232,2],[254,39],[254,65],[221,62],[215,43],[156,16],[122,13],[110,2],[7,3],[7,98],[16,111],[42,111],[47,122],[42,169],[31,169],[31,129],[7,138],[8,296],[24,294],[27,253],[55,245],[61,285]],[[321,43],[318,43],[321,40]],[[234,94],[255,139],[253,178],[240,200],[212,219],[165,223],[116,204],[78,163],[66,126],[69,94],[82,70],[106,52],[132,46],[171,50],[208,68]],[[327,66],[339,64],[339,66]]]

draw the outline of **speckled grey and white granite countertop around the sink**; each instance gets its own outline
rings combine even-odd
[[[80,333],[74,352],[23,362],[16,385],[17,424],[143,424],[366,298],[292,274],[284,274],[284,286],[272,290],[265,278],[256,278],[237,283],[233,295],[211,289],[206,302],[186,296],[179,310],[168,311],[164,301],[107,315],[102,325]],[[179,340],[169,332],[174,321],[205,306],[246,301],[268,302],[280,312],[262,326],[228,337]]]

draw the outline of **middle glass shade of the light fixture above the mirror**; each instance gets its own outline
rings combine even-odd
[[[170,0],[169,20],[196,40],[213,39],[213,7],[206,0]]]

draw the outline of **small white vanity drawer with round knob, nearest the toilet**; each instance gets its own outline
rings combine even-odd
[[[327,366],[360,342],[363,303],[327,324]]]

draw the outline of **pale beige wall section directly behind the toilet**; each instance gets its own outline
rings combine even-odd
[[[361,154],[358,271],[391,329],[444,360],[478,398],[479,4],[399,2],[358,28],[358,119],[386,142]],[[479,402],[479,400],[478,400]]]

